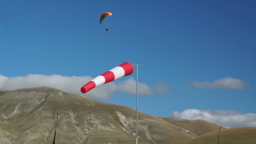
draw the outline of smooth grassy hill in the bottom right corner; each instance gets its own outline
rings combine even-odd
[[[217,144],[218,130],[204,134],[186,144]],[[220,129],[219,144],[256,144],[256,128]]]

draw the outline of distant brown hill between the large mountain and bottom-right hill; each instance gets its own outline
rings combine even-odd
[[[205,120],[185,120],[182,118],[175,117],[159,117],[162,120],[165,120],[169,124],[173,124],[175,126],[179,126],[181,128],[185,128],[190,132],[196,134],[197,136],[201,136],[203,134],[207,134],[208,132],[213,132],[215,130],[220,129],[220,125],[213,124],[211,122],[207,122]],[[228,127],[222,126],[222,129],[226,129]]]

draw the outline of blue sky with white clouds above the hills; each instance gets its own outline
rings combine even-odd
[[[135,72],[80,93],[128,61],[144,65],[140,112],[256,126],[255,18],[254,0],[1,1],[0,90],[51,86],[135,109]]]

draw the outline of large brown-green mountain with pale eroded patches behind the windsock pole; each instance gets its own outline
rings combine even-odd
[[[134,144],[136,110],[48,87],[0,92],[0,144]],[[138,143],[184,144],[197,135],[138,113]]]

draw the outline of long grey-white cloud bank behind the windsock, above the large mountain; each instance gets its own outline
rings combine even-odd
[[[19,88],[34,88],[39,86],[48,86],[57,88],[64,92],[81,95],[80,88],[92,80],[90,76],[61,76],[61,75],[41,75],[28,74],[27,76],[17,76],[8,78],[0,75],[0,91],[1,90],[16,90]],[[144,83],[138,83],[138,93],[145,95],[154,95],[157,93],[164,93],[162,89],[168,90],[164,84],[156,89],[149,88]],[[160,89],[160,90],[159,90]],[[131,77],[126,81],[110,82],[98,86],[86,93],[86,96],[107,100],[115,93],[136,94],[136,81]],[[84,95],[84,94],[83,94]]]

